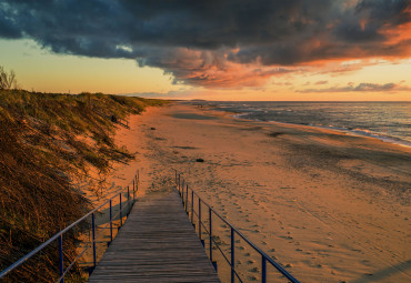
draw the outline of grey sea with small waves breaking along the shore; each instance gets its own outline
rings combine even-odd
[[[235,118],[333,129],[411,146],[411,102],[192,101]]]

